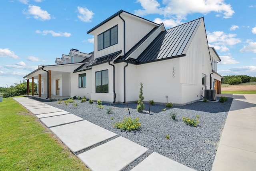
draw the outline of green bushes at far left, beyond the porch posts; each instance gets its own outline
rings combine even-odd
[[[14,83],[15,85],[11,85],[8,87],[6,84],[6,87],[0,87],[0,93],[3,95],[4,98],[6,97],[14,97],[17,95],[26,95],[27,94],[27,82],[23,80],[23,82],[20,81],[20,84]],[[34,92],[37,91],[37,84],[34,83]],[[32,82],[29,83],[29,92],[32,92]]]

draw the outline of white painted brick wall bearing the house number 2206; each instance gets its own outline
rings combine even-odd
[[[178,58],[138,66],[129,65],[126,75],[126,92],[129,93],[126,93],[126,101],[138,100],[142,82],[144,101],[154,99],[155,102],[166,103],[168,95],[168,102],[181,102]]]

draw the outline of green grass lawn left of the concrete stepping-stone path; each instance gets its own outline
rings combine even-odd
[[[12,98],[0,102],[0,170],[89,171],[32,113]]]

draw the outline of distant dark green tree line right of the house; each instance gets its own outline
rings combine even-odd
[[[239,76],[223,76],[221,79],[222,84],[242,84],[248,82],[256,82],[256,77],[250,77],[246,75],[239,75]]]

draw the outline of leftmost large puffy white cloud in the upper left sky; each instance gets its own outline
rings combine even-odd
[[[50,14],[48,14],[47,11],[42,10],[40,6],[29,5],[28,8],[28,11],[23,10],[24,14],[33,15],[35,19],[43,21],[51,19]]]

